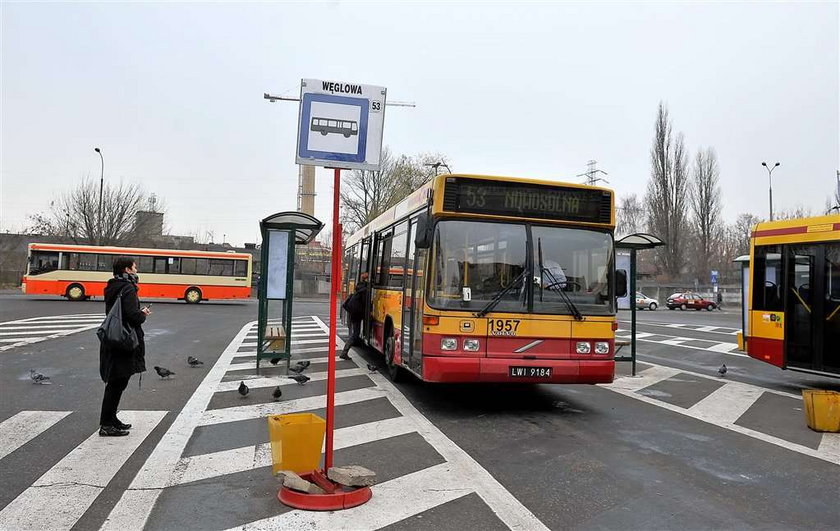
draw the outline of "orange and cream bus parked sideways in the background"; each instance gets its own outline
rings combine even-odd
[[[60,295],[71,301],[101,297],[113,276],[117,256],[135,260],[141,297],[197,304],[251,296],[251,255],[247,253],[53,243],[29,244],[21,290],[30,295]]]

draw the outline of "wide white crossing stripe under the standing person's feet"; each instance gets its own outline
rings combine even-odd
[[[75,447],[0,511],[0,529],[70,529],[119,472],[166,411],[121,411],[127,437],[100,437]]]

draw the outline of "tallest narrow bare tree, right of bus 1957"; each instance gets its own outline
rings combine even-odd
[[[671,278],[680,275],[685,262],[688,219],[688,162],[682,133],[674,136],[668,108],[659,103],[650,149],[651,175],[645,203],[650,209],[650,232],[666,245],[657,249],[660,269]]]

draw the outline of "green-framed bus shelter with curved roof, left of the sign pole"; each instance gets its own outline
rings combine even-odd
[[[278,212],[260,221],[257,374],[263,359],[285,360],[289,368],[295,246],[311,242],[322,228],[323,223],[303,212]]]

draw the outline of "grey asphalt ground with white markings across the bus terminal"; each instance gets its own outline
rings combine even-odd
[[[177,374],[146,373],[139,388],[133,378],[121,404],[136,412],[133,433],[100,440],[98,344],[85,323],[102,302],[0,293],[0,348],[17,345],[0,351],[0,528],[45,528],[33,512],[74,529],[840,527],[840,435],[808,430],[797,398],[838,381],[730,352],[736,311],[640,312],[638,376],[622,363],[610,386],[392,385],[366,368],[381,356],[356,349],[338,363],[336,462],[374,469],[379,490],[323,514],[276,500],[263,417],[322,413],[328,305],[295,303],[295,348],[312,360],[305,386],[249,369],[253,301],[152,309],[148,365]],[[619,321],[629,328],[629,313]],[[32,342],[56,324],[86,329]],[[21,331],[31,334],[18,345]],[[205,365],[187,367],[187,355]],[[32,384],[30,368],[53,384]],[[60,511],[45,503],[56,495]]]

